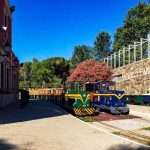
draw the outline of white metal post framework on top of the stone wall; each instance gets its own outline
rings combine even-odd
[[[147,39],[141,38],[140,41],[105,57],[103,61],[111,68],[117,68],[146,58],[150,58],[150,33]]]

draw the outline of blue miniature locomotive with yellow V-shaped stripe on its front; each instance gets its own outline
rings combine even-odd
[[[112,82],[98,82],[92,93],[92,105],[96,109],[109,111],[111,114],[129,114],[127,98],[124,91],[109,90]]]

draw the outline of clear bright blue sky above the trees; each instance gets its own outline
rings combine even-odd
[[[139,0],[11,0],[13,49],[21,62],[70,58],[79,44],[92,46],[97,34],[112,37]]]

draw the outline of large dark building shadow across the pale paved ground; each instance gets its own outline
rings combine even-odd
[[[0,124],[24,122],[42,118],[57,117],[68,113],[49,101],[30,101],[20,109],[18,105],[9,106],[0,110]]]

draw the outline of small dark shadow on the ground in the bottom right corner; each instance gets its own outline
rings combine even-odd
[[[144,146],[133,147],[130,145],[120,144],[120,145],[113,146],[108,150],[150,150],[150,147],[144,147]]]

